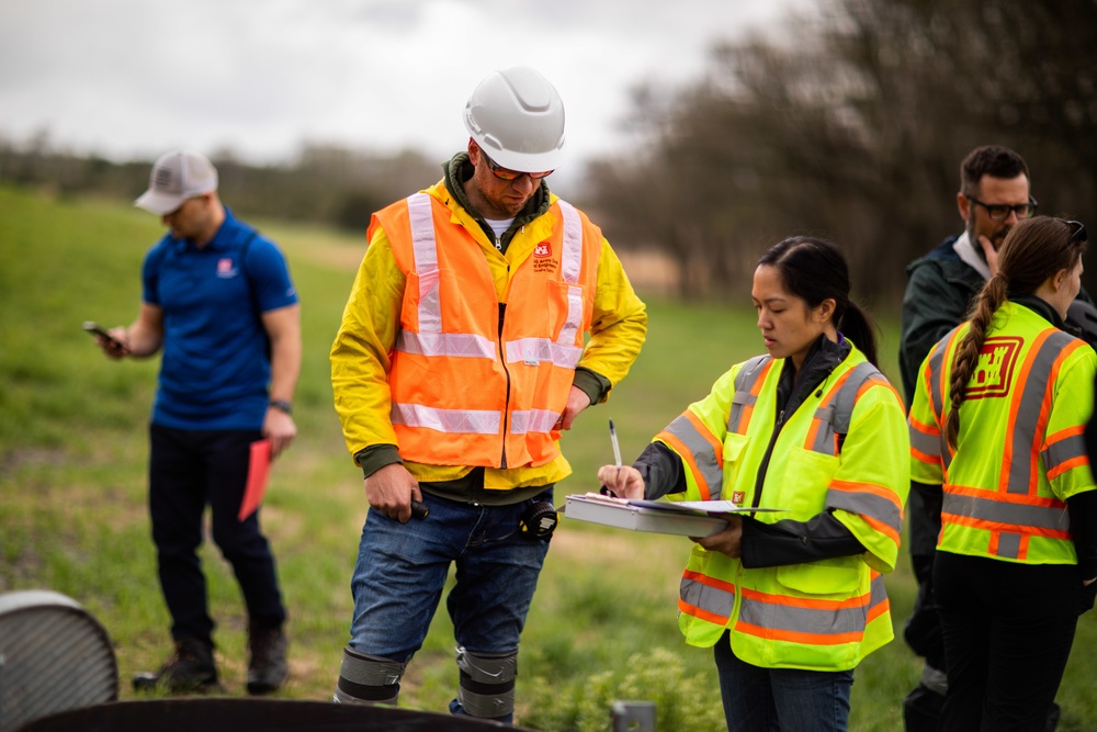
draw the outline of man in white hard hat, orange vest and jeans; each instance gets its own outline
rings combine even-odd
[[[601,230],[548,190],[553,86],[493,72],[464,123],[442,180],[373,215],[331,348],[370,505],[335,698],[396,703],[455,563],[450,711],[512,722],[553,485],[570,473],[558,440],[625,376],[647,315]]]

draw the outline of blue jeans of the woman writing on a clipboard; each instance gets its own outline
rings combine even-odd
[[[727,729],[838,732],[849,721],[852,671],[761,668],[739,660],[728,633],[713,649]]]

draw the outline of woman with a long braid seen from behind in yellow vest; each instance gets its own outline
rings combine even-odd
[[[1064,325],[1085,244],[1078,222],[1018,223],[970,319],[921,364],[911,474],[943,491],[941,730],[1042,731],[1094,604],[1097,485],[1083,432],[1097,354]]]

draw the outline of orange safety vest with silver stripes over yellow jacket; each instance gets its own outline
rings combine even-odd
[[[407,278],[391,353],[400,457],[520,468],[559,454],[564,412],[590,329],[601,233],[565,201],[548,238],[516,264],[505,306],[485,252],[452,212],[419,192],[374,214]]]

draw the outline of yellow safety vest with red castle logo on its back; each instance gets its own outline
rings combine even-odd
[[[911,405],[911,476],[941,485],[938,551],[1025,564],[1076,564],[1066,499],[1093,491],[1083,432],[1097,354],[1022,304],[994,314],[945,440],[949,380],[964,323],[926,357]]]

